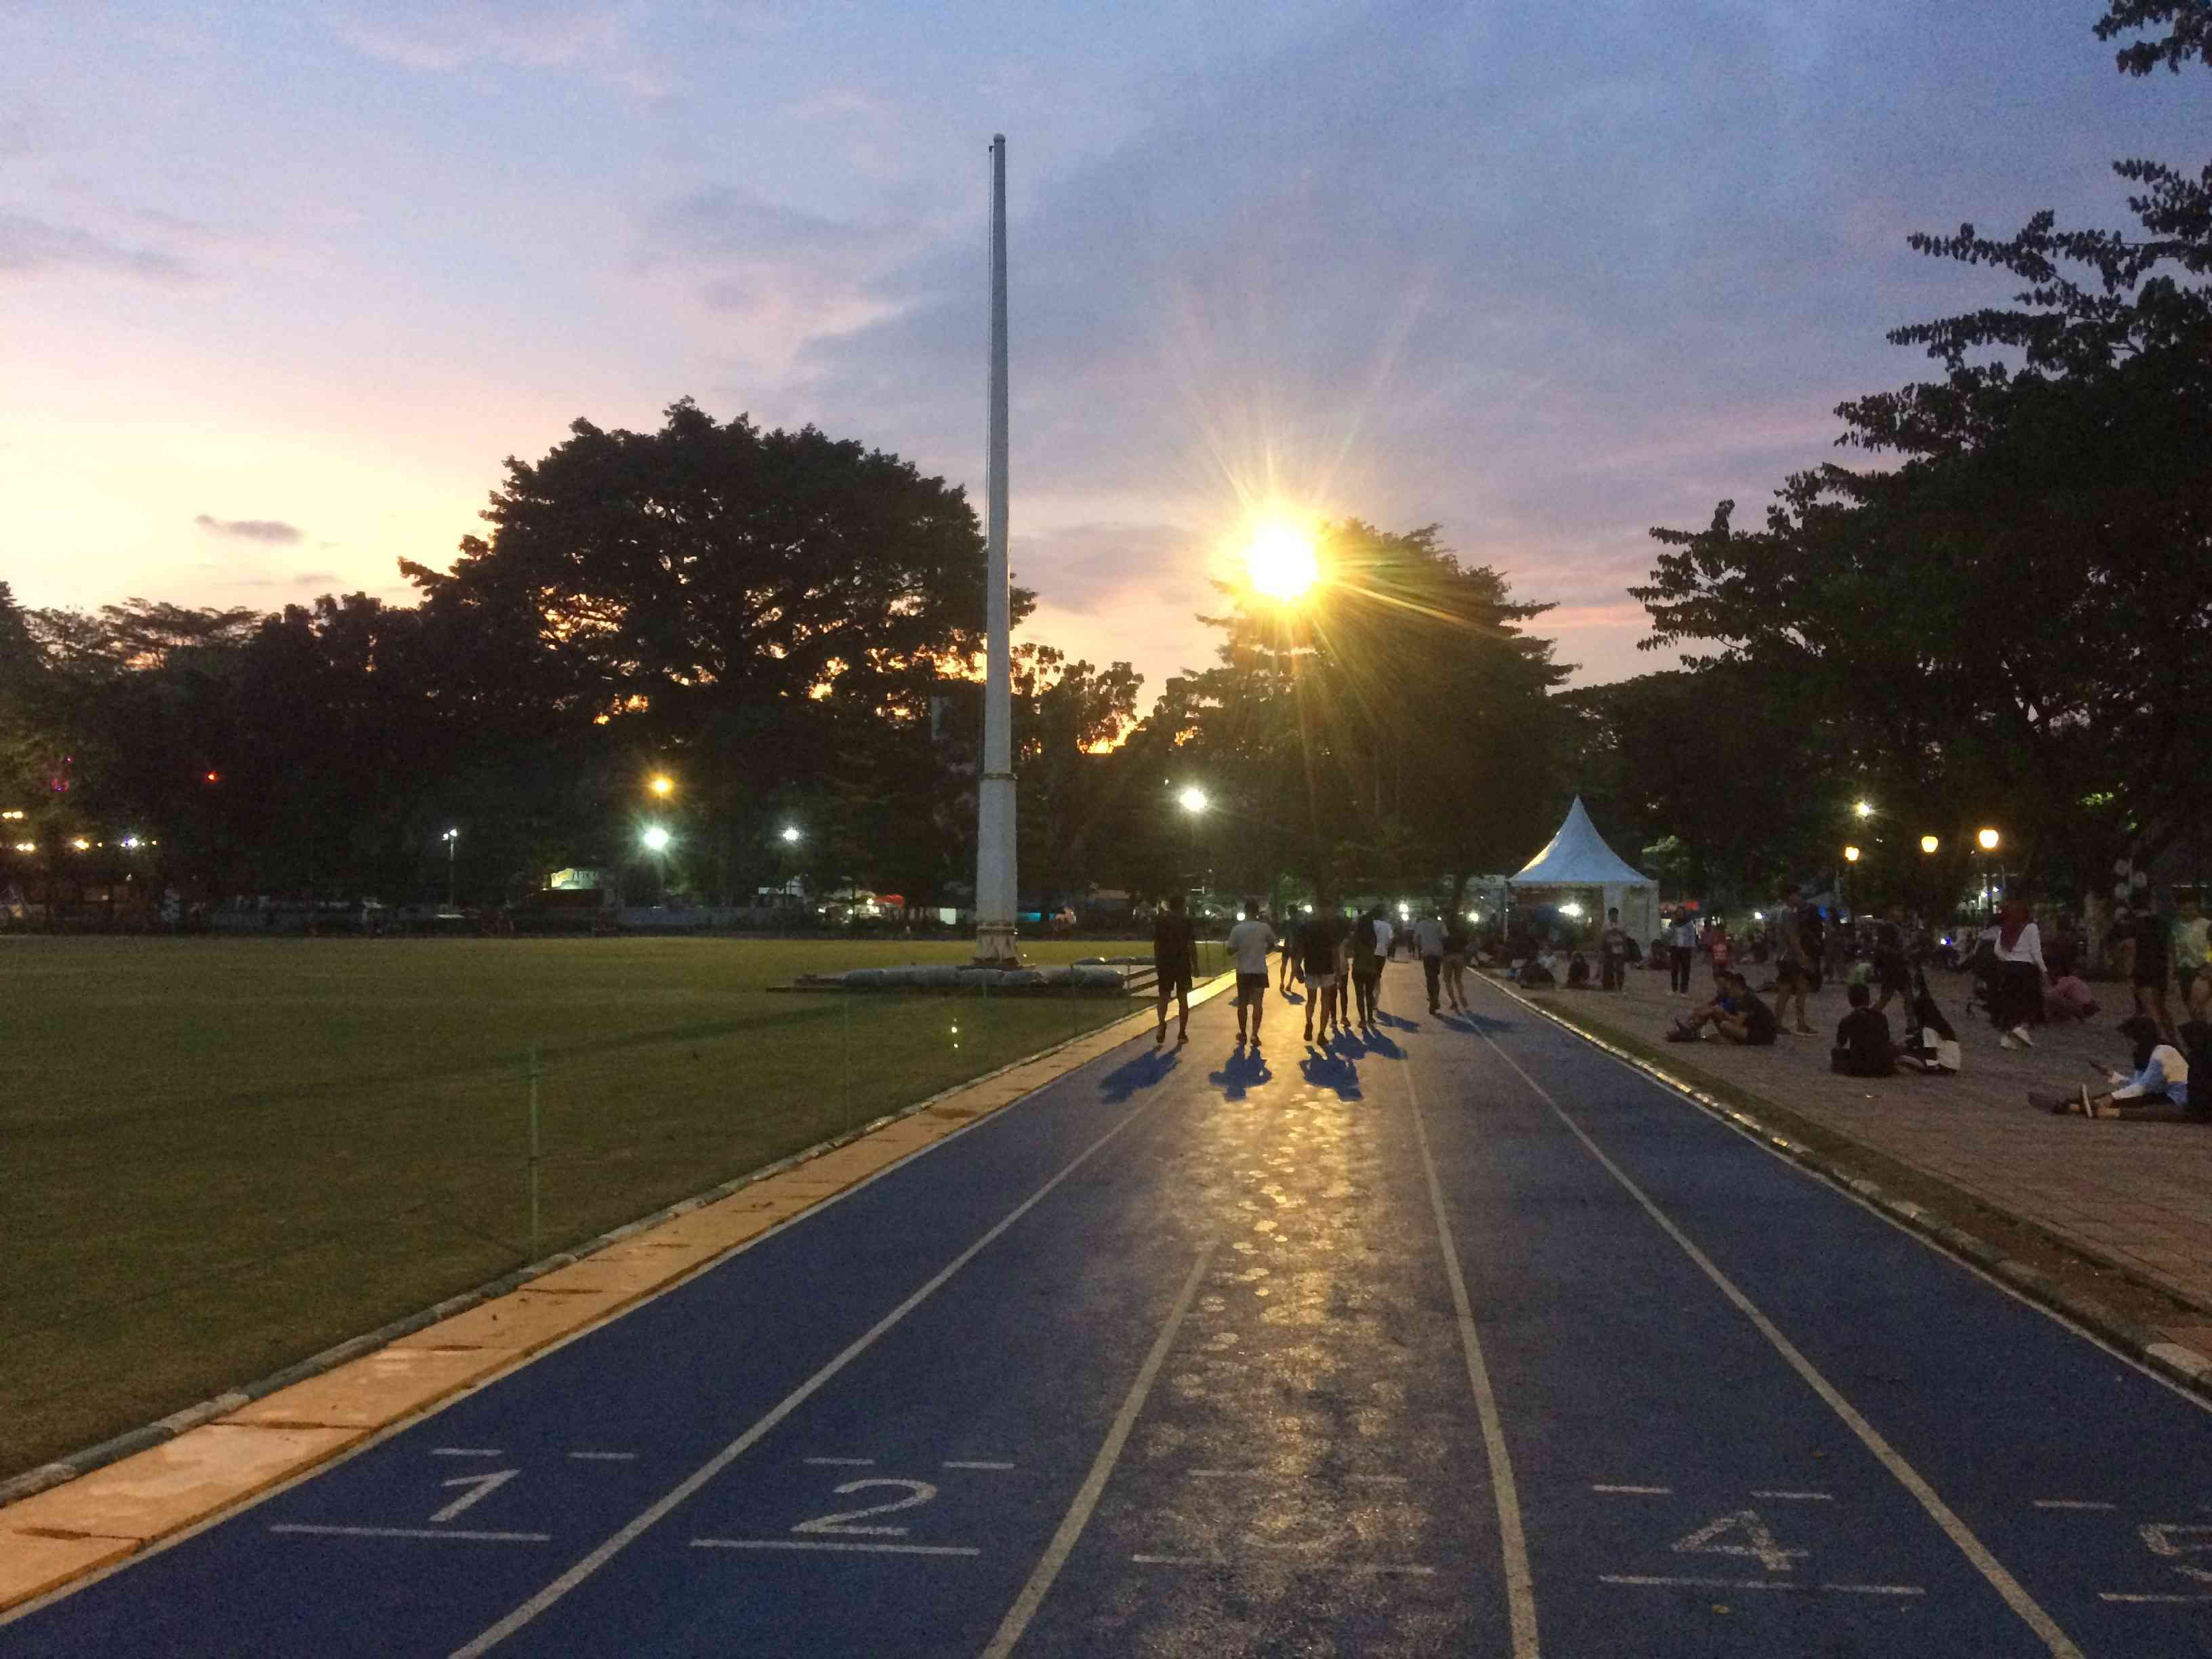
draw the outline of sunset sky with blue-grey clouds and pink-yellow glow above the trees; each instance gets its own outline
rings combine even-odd
[[[2199,77],[2097,0],[0,0],[0,577],[405,597],[568,420],[814,422],[969,484],[1009,137],[1029,635],[1159,681],[1248,502],[1655,666],[1652,524],[1756,511],[1898,323],[1905,234],[2128,223]]]

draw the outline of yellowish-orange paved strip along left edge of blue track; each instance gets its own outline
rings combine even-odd
[[[1221,973],[1192,1006],[1234,989]],[[630,1234],[520,1290],[254,1400],[106,1469],[0,1511],[0,1610],[307,1473],[347,1447],[482,1387],[891,1164],[1033,1095],[1157,1020],[1146,1009],[1020,1060],[805,1164]]]

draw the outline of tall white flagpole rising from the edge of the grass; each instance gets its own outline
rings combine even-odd
[[[982,692],[982,779],[975,790],[975,962],[1011,967],[1013,876],[1013,646],[1006,617],[1006,135],[991,139],[991,449],[984,546],[991,646]]]

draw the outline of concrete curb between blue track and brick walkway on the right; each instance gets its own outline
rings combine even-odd
[[[1767,1128],[1765,1124],[1761,1124],[1756,1117],[1752,1117],[1750,1113],[1741,1110],[1739,1106],[1730,1106],[1725,1099],[1717,1099],[1714,1095],[1708,1095],[1697,1084],[1690,1084],[1690,1082],[1686,1082],[1681,1077],[1674,1077],[1663,1066],[1655,1066],[1650,1060],[1644,1060],[1644,1055],[1637,1055],[1637,1053],[1632,1053],[1628,1048],[1621,1048],[1615,1042],[1608,1042],[1606,1037],[1597,1035],[1595,1031],[1588,1031],[1586,1026],[1575,1024],[1564,1013],[1553,1013],[1551,1009],[1537,1006],[1535,1002],[1531,1002],[1528,998],[1524,998],[1515,987],[1511,987],[1511,984],[1506,984],[1506,982],[1502,982],[1502,980],[1498,980],[1498,978],[1493,978],[1489,973],[1484,973],[1482,978],[1491,987],[1495,987],[1502,995],[1506,995],[1513,1002],[1522,1004],[1524,1009],[1528,1009],[1528,1013],[1537,1015],[1540,1020],[1551,1020],[1555,1026],[1559,1026],[1562,1031],[1575,1033],[1577,1037],[1582,1037],[1584,1042],[1588,1042],[1593,1048],[1601,1048],[1604,1053],[1613,1055],[1621,1064],[1635,1066],[1646,1077],[1650,1077],[1650,1079],[1655,1079],[1659,1084],[1666,1084],[1677,1095],[1681,1095],[1683,1099],[1688,1099],[1692,1106],[1697,1106],[1703,1113],[1710,1113],[1712,1117],[1719,1117],[1723,1124],[1728,1124],[1730,1128],[1739,1130],[1741,1135],[1750,1135],[1752,1139],[1763,1141],[1772,1150],[1783,1152],[1794,1164],[1801,1164],[1803,1168],[1812,1170],[1814,1175],[1823,1177],[1825,1181],[1832,1181],[1832,1183],[1845,1188],[1847,1192],[1851,1192],[1854,1197],[1865,1199],[1867,1203],[1871,1203],[1882,1214],[1887,1214],[1887,1217],[1891,1217],[1896,1221],[1902,1221],[1907,1228],[1911,1228],[1913,1232],[1918,1232],[1922,1239],[1933,1241],[1936,1245],[1940,1245],[1942,1250],[1951,1252],[1953,1256],[1971,1261],[1975,1267],[1982,1267],[1984,1272],[1995,1274],[1997,1279],[2002,1279],[2004,1283],[2008,1283],[2011,1287],[2015,1287],[2024,1296],[2031,1296],[2033,1301],[2037,1301],[2037,1303],[2042,1303],[2042,1305],[2046,1305],[2046,1307],[2064,1314],[2066,1318],[2075,1321],[2077,1325],[2095,1332],[2106,1343],[2110,1343],[2112,1347],[2121,1349],[2124,1354],[2128,1354],[2130,1358],[2139,1360],[2141,1365],[2150,1367],[2152,1371],[2157,1371],[2159,1376],[2168,1378],[2170,1383],[2179,1383],[2181,1387],[2185,1387],[2185,1389],[2190,1389],[2194,1394],[2201,1394],[2208,1400],[2212,1400],[2212,1358],[2208,1358],[2205,1354],[2199,1354],[2194,1347],[2185,1347],[2183,1343],[2174,1343],[2174,1340],[2161,1336],[2159,1332],[2150,1329],[2148,1325],[2137,1325],[2132,1318],[2126,1318],[2126,1316],[2112,1312],[2110,1307],[2106,1307],[2104,1303],[2099,1303],[2095,1296],[2084,1296],[2081,1292],[2070,1290],[2068,1285],[2062,1285],[2051,1274],[2046,1274],[2042,1267],[2035,1267],[2033,1263],[2026,1263],[2026,1261],[2017,1261],[2015,1256],[2006,1256],[2002,1250],[1997,1250],[1995,1245],[1991,1245],[1986,1239],[1978,1239],[1971,1232],[1964,1232],[1962,1228],[1951,1225],[1942,1217],[1936,1217],[1929,1210],[1922,1210],[1918,1203],[1909,1203],[1907,1199],[1898,1199],[1898,1197],[1885,1192],[1880,1186],[1876,1186],[1867,1177],[1856,1175],[1849,1166],[1838,1164],[1838,1161],[1825,1157],[1823,1152],[1816,1152],[1809,1146],[1803,1146],[1801,1141],[1794,1141],[1787,1135],[1781,1135],[1776,1130]],[[2031,1232],[2051,1237],[2046,1228],[2035,1225],[2035,1221],[2031,1221],[2028,1217],[2015,1217],[2011,1210],[2000,1210],[2000,1206],[1989,1203],[1986,1199],[1980,1199],[1980,1197],[1975,1199],[1975,1203],[1982,1203],[1984,1208],[1995,1210],[1997,1214],[2008,1217],[2011,1221],[2015,1221],[2017,1225],[2022,1225],[2022,1228],[2026,1228]],[[2055,1239],[2055,1237],[2051,1237],[2051,1241],[2055,1245],[2073,1252],[2073,1254],[2084,1256],[2084,1261],[2097,1261],[2097,1265],[2112,1265],[2112,1263],[2104,1263],[2101,1259],[2097,1259],[2090,1252],[2081,1250],[2070,1239]],[[2117,1265],[2112,1265],[2112,1270],[2119,1272]],[[2141,1281],[2137,1281],[2137,1283],[2141,1283]],[[2172,1294],[2172,1292],[2163,1290],[2161,1285],[2146,1285],[2146,1290],[2157,1290],[2161,1296]]]

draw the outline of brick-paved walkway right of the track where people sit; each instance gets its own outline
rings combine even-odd
[[[1770,978],[1756,964],[1750,975],[1754,987]],[[1559,991],[1542,1002],[1566,1018],[1659,1042],[1674,1013],[1710,995],[1710,984],[1712,975],[1699,964],[1692,995],[1674,998],[1663,973],[1630,971],[1621,993]],[[1986,1020],[1962,1015],[1964,978],[1936,973],[1929,989],[1960,1033],[1964,1066],[1958,1077],[1836,1077],[1827,1051],[1845,1000],[1834,980],[1812,998],[1818,1037],[1783,1035],[1774,1048],[1705,1042],[1677,1053],[2208,1310],[2194,1332],[2194,1343],[2208,1347],[2212,1124],[2179,1115],[2163,1121],[2053,1117],[2026,1099],[2031,1091],[2095,1082],[2093,1060],[2124,1064],[2128,1044],[2112,1026],[2126,1009],[2108,1009],[2086,1029],[2039,1026],[2035,1048],[2004,1051]],[[2099,987],[2099,993],[2112,989]],[[1891,1002],[1891,1031],[1898,1031],[1896,1013]]]

